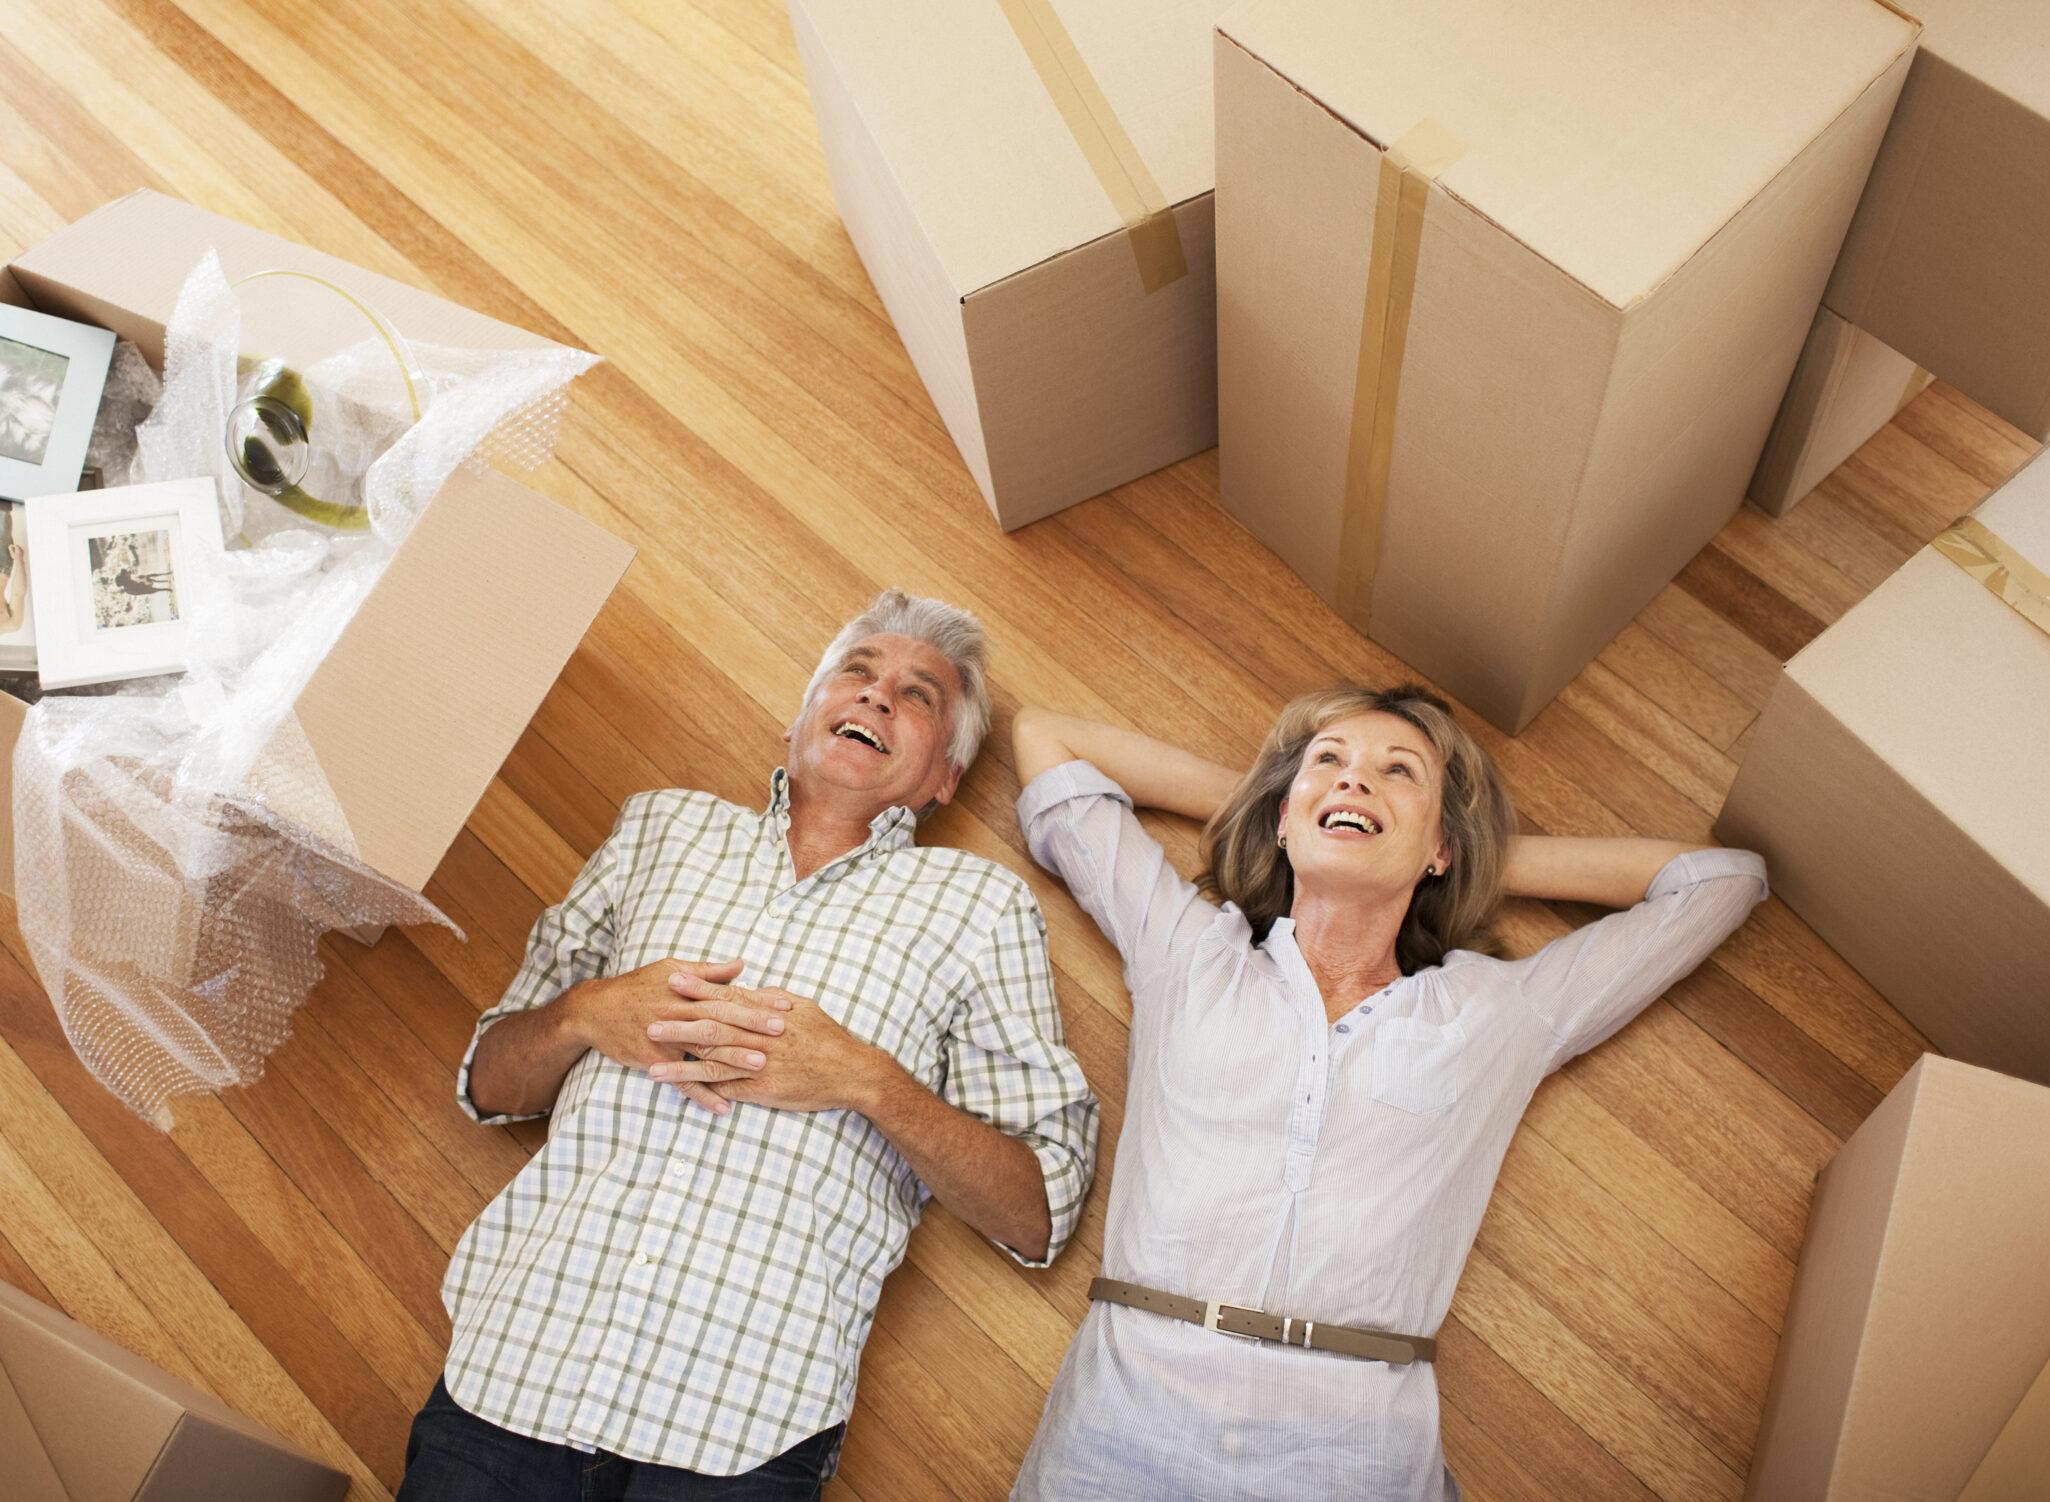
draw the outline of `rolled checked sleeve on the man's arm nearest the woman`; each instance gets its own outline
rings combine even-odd
[[[1019,1137],[1039,1160],[1054,1223],[1046,1258],[1002,1250],[1023,1266],[1048,1266],[1082,1217],[1097,1168],[1097,1098],[1066,1047],[1046,918],[1023,885],[968,969],[941,1098]]]

